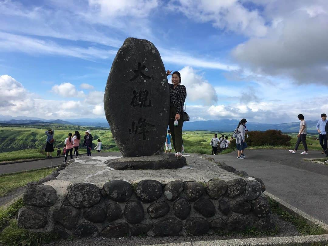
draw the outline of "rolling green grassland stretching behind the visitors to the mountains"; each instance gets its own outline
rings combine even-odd
[[[49,127],[48,127],[49,128]],[[62,150],[64,145],[64,140],[67,137],[69,132],[74,133],[75,130],[82,133],[82,137],[87,128],[85,127],[72,127],[72,126],[56,126],[53,127],[55,130],[54,133],[54,149],[55,151],[59,147]],[[0,162],[1,161],[10,161],[18,159],[32,159],[32,158],[44,158],[46,155],[43,150],[45,148],[46,138],[45,135],[46,129],[40,129],[36,126],[29,127],[0,127]],[[116,147],[115,141],[113,140],[112,133],[110,129],[101,128],[101,129],[92,129],[93,135],[93,144],[97,143],[97,139],[100,138],[104,147],[103,151],[119,151]],[[211,131],[186,131],[183,132],[183,143],[185,148],[185,153],[200,153],[200,154],[211,154],[212,147],[210,146],[210,141],[214,136],[215,132]],[[221,134],[232,136],[232,133],[225,132],[219,133],[216,132],[218,136]],[[289,146],[252,146],[249,149],[291,149],[294,147],[297,140],[297,133],[291,133],[292,139],[289,142]],[[307,144],[309,150],[321,150],[319,140],[315,138],[318,137],[318,134],[308,134],[307,135]],[[82,142],[82,141],[81,141]],[[247,142],[247,138],[246,138]],[[163,143],[164,145],[164,143]],[[232,146],[234,147],[234,146]],[[303,150],[303,145],[300,144],[299,150]],[[226,150],[222,154],[229,153],[232,150]],[[86,150],[80,145],[80,153],[86,153]],[[55,152],[53,153],[55,155]]]

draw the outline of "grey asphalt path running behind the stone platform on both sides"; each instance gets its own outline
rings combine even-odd
[[[229,154],[209,155],[236,170],[263,180],[266,190],[328,224],[328,166],[302,160],[324,158],[319,151],[308,155],[289,153],[288,150],[246,150],[245,159],[237,159],[236,151]],[[94,156],[121,156],[119,152],[95,153]],[[56,167],[62,158],[14,163],[0,166],[0,174]]]

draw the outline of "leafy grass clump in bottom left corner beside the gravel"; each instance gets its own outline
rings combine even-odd
[[[19,228],[16,219],[10,221],[0,234],[0,242],[8,246],[39,246],[58,239],[58,235],[51,233],[31,233]]]

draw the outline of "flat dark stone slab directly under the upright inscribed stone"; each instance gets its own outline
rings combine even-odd
[[[105,161],[108,167],[116,170],[136,170],[136,169],[177,169],[182,168],[187,163],[185,157],[176,158],[174,154],[160,154],[141,157],[122,157]]]

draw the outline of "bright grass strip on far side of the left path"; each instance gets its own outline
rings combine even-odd
[[[25,160],[25,159],[38,159],[45,158],[46,155],[43,151],[37,149],[16,150],[10,152],[0,153],[0,162],[13,161],[13,160]]]

